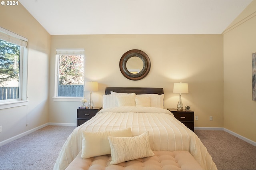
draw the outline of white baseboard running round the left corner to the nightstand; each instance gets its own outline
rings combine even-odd
[[[76,123],[46,123],[46,124],[41,125],[41,126],[39,126],[39,127],[32,128],[32,129],[30,129],[30,130],[28,130],[28,131],[26,131],[26,132],[23,132],[23,133],[21,133],[21,134],[18,134],[18,135],[16,135],[16,136],[13,136],[13,137],[11,137],[11,138],[8,138],[8,139],[6,139],[6,140],[0,142],[0,146],[2,146],[2,145],[4,145],[4,144],[7,144],[7,143],[9,143],[9,142],[12,142],[13,140],[16,140],[16,139],[18,139],[18,138],[21,138],[21,137],[23,137],[23,136],[26,136],[27,134],[30,134],[30,133],[32,133],[32,132],[34,132],[34,131],[36,131],[36,130],[39,130],[40,128],[44,128],[44,127],[50,126],[50,125],[52,125],[52,126],[69,126],[69,127],[76,127]]]

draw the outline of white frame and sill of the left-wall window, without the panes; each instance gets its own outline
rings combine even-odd
[[[19,98],[0,101],[0,109],[28,105],[28,39],[0,27],[0,39],[20,46]]]

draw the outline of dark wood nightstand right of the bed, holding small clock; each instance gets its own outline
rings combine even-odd
[[[194,111],[178,111],[178,109],[168,109],[174,117],[194,132]]]

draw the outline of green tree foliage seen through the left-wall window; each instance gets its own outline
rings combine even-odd
[[[0,85],[19,79],[20,46],[0,40]]]

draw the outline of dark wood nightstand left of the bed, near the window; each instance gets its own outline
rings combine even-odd
[[[76,126],[78,127],[86,121],[90,120],[101,109],[102,107],[93,107],[92,109],[77,109]]]

